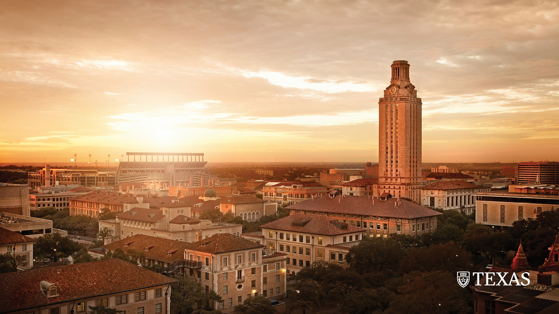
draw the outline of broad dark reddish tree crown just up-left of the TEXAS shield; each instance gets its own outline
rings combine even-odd
[[[400,260],[400,271],[410,273],[431,270],[457,272],[470,268],[470,254],[454,242],[435,244],[428,249],[414,248]]]

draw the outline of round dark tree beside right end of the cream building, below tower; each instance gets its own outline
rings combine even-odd
[[[345,255],[351,268],[367,272],[390,272],[404,256],[400,244],[394,239],[364,237],[359,244],[349,248]]]

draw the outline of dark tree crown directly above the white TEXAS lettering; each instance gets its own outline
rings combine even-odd
[[[504,258],[506,251],[515,249],[515,241],[508,232],[492,232],[485,226],[468,231],[462,243],[466,250],[480,251],[489,260]]]

